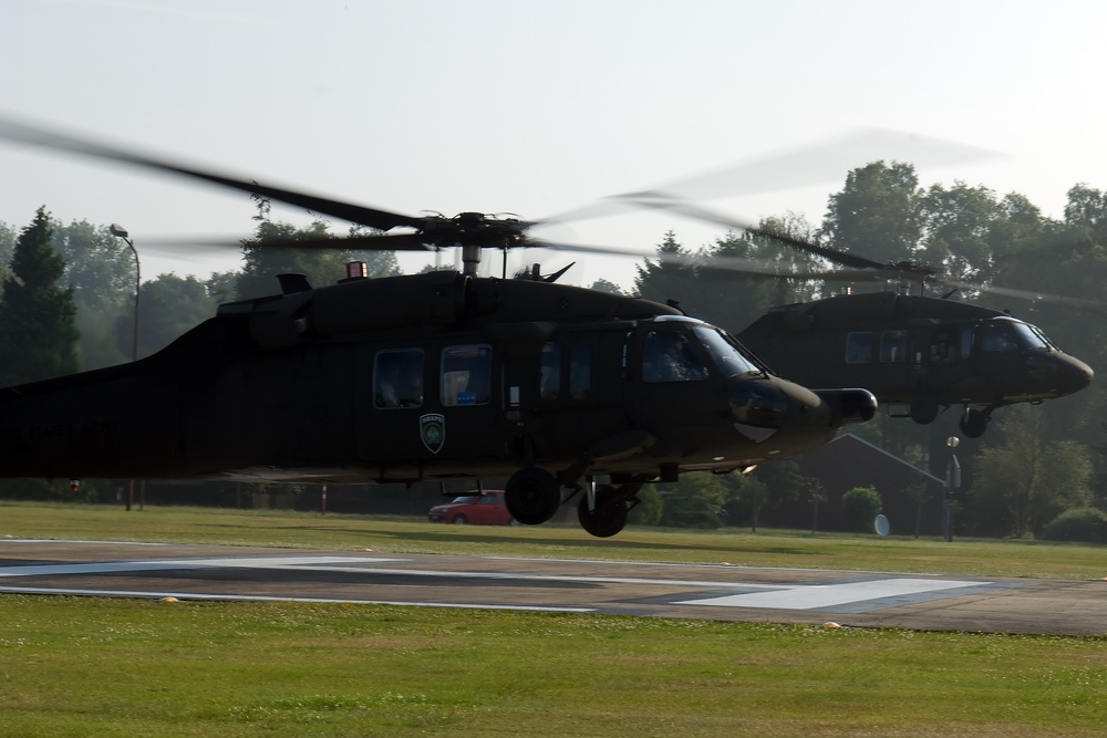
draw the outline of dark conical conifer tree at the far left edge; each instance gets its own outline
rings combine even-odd
[[[58,287],[65,261],[51,247],[50,215],[39,208],[15,243],[0,298],[0,385],[79,368],[73,290]]]

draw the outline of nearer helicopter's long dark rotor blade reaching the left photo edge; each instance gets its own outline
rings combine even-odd
[[[240,179],[214,170],[199,169],[183,164],[175,164],[167,159],[144,156],[134,152],[124,150],[115,146],[89,141],[86,138],[50,131],[42,126],[31,126],[15,121],[0,117],[0,139],[7,139],[25,144],[29,146],[43,146],[61,152],[72,152],[84,156],[91,156],[107,162],[130,164],[134,166],[154,169],[156,171],[168,171],[184,175],[194,179],[201,179],[223,187],[229,187],[251,195],[260,195],[273,200],[287,202],[298,207],[307,208],[312,212],[341,218],[350,222],[369,226],[377,230],[391,230],[397,226],[417,227],[421,218],[379,210],[352,202],[342,202],[329,197],[310,195],[308,193],[294,191],[281,187],[262,185],[257,181]]]

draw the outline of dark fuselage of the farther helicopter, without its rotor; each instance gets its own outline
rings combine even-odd
[[[1092,368],[1036,326],[952,300],[891,292],[774,308],[738,339],[806,386],[862,386],[881,404],[1000,407],[1086,387]]]

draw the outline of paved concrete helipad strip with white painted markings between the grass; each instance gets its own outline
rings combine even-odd
[[[13,592],[1107,634],[1101,581],[99,541],[0,541]]]

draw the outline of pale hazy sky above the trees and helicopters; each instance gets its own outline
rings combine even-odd
[[[0,0],[0,117],[403,214],[525,219],[846,136],[867,143],[749,169],[711,205],[818,224],[846,173],[883,158],[1061,217],[1073,185],[1107,188],[1105,28],[1096,0]],[[931,139],[997,155],[930,163]],[[236,258],[144,238],[254,225],[241,194],[0,143],[0,220],[41,205],[124,225],[144,277]],[[656,212],[536,235],[651,250],[669,229],[723,235]],[[624,287],[638,263],[534,260]]]

